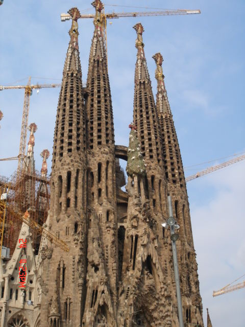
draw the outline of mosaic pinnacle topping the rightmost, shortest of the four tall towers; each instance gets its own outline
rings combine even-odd
[[[155,71],[155,77],[157,80],[157,109],[161,113],[171,114],[170,105],[167,98],[167,91],[164,83],[164,75],[162,73],[162,55],[158,52],[152,56],[152,58],[155,60],[157,65]]]

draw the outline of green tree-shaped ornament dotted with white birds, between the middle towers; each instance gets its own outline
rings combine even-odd
[[[136,127],[130,124],[129,128],[131,128],[131,132],[129,134],[128,164],[126,172],[131,177],[133,177],[133,175],[145,175],[145,163],[141,154]]]

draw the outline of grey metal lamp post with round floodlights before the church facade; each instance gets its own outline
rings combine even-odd
[[[175,218],[173,217],[173,208],[171,202],[171,196],[167,197],[167,204],[168,204],[168,213],[169,218],[167,219],[166,223],[163,223],[162,226],[164,228],[170,226],[170,239],[172,243],[172,250],[173,250],[173,261],[174,261],[174,270],[175,270],[175,285],[176,285],[176,295],[177,295],[177,304],[178,304],[178,315],[179,315],[179,324],[180,327],[184,327],[183,323],[183,313],[182,313],[182,301],[181,301],[181,293],[180,293],[180,277],[179,277],[179,267],[178,267],[178,259],[177,259],[177,248],[176,248],[176,241],[179,238],[178,233],[175,232],[175,229],[179,229],[180,226],[176,223]]]

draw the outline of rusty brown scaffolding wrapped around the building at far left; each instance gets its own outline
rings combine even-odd
[[[15,172],[9,179],[0,176],[0,187],[2,188],[2,198],[7,203],[2,245],[10,248],[10,255],[12,255],[22,224],[14,211],[22,214],[28,211],[30,220],[34,224],[42,226],[46,221],[49,209],[50,178],[41,176],[38,171],[30,173],[22,170]],[[5,211],[2,212],[5,213]],[[1,225],[3,225],[2,220]],[[40,241],[40,233],[32,228],[32,246],[35,254],[38,253]]]

